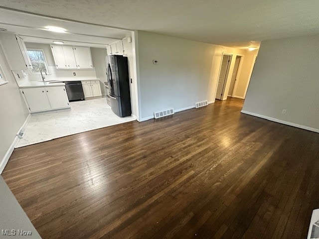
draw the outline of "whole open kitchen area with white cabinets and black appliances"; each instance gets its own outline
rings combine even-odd
[[[47,25],[26,32],[0,24],[0,44],[29,112],[15,147],[136,120],[131,32],[102,37],[101,29],[76,23],[95,31],[89,36],[66,29],[75,23]]]

